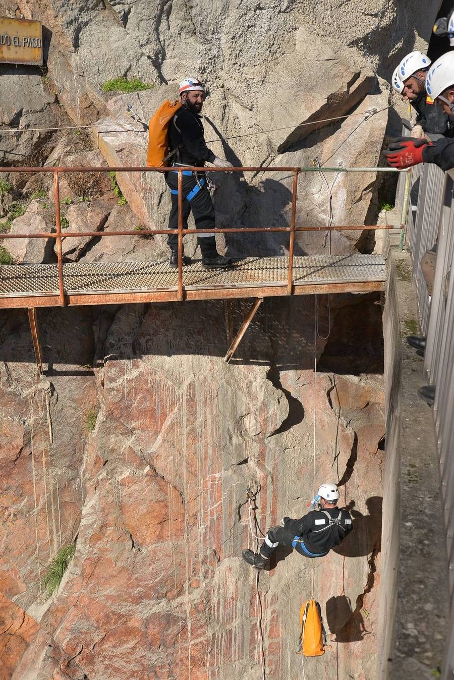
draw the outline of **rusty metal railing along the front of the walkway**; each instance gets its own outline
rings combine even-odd
[[[252,172],[252,173],[291,173],[293,176],[292,186],[292,210],[290,216],[290,226],[271,226],[271,227],[237,227],[237,228],[211,228],[211,229],[184,229],[183,228],[183,172],[184,171],[198,171],[198,172]],[[283,232],[289,233],[289,266],[287,277],[287,294],[292,294],[294,286],[293,281],[293,260],[294,260],[294,243],[295,233],[297,231],[362,231],[364,229],[390,229],[392,226],[377,225],[377,224],[361,224],[359,226],[296,226],[296,202],[298,194],[298,177],[300,173],[304,172],[400,172],[395,168],[372,168],[372,167],[234,167],[234,168],[206,168],[206,167],[1,167],[0,173],[53,173],[54,177],[54,203],[55,203],[55,232],[39,232],[34,234],[2,234],[1,239],[54,239],[56,241],[56,255],[58,260],[58,301],[61,306],[65,305],[65,286],[63,280],[63,248],[62,241],[67,237],[105,237],[105,236],[156,236],[175,234],[175,229],[141,229],[140,231],[65,231],[62,234],[61,216],[60,216],[60,188],[59,175],[60,173],[76,173],[76,172],[158,172],[166,173],[169,171],[178,173],[178,290],[177,300],[184,300],[184,285],[183,285],[183,237],[185,234],[203,234],[203,233],[221,233],[221,234],[235,234],[235,233],[268,233],[268,232]]]

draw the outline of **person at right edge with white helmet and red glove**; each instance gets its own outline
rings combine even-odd
[[[454,114],[454,51],[437,59],[427,72],[427,93],[442,106],[445,114]],[[453,135],[454,129],[450,134]],[[435,163],[442,170],[454,167],[454,139],[437,141],[398,137],[385,151],[389,165],[403,170],[418,163]]]

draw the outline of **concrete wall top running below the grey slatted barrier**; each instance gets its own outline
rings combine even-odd
[[[430,680],[442,667],[449,629],[440,473],[432,409],[417,394],[425,382],[423,358],[402,342],[417,328],[412,262],[385,241],[387,434],[377,678]]]

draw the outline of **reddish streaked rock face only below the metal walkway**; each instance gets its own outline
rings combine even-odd
[[[344,350],[364,365],[381,352],[370,303],[368,336]],[[336,662],[307,660],[309,672],[374,677],[381,376],[317,373],[314,400],[311,361],[325,341],[315,350],[313,299],[264,305],[232,365],[220,354],[240,303],[46,313],[51,368],[38,383],[25,320],[5,315],[2,591],[39,622],[14,679],[259,677],[260,602],[266,677],[299,677],[298,611],[312,578]],[[342,313],[332,309],[334,327]],[[319,323],[324,333],[324,305]],[[338,479],[355,532],[314,575],[312,562],[278,554],[259,602],[239,557],[256,545],[245,492],[256,492],[262,530],[304,513],[314,418],[317,480]],[[43,570],[71,540],[75,557],[46,601]]]

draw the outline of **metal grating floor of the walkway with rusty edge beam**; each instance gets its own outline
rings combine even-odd
[[[287,273],[286,257],[245,258],[225,271],[207,271],[194,261],[184,267],[183,285],[186,299],[281,295]],[[295,256],[293,279],[294,294],[383,290],[385,258],[360,253]],[[68,304],[173,301],[177,270],[168,262],[67,262],[63,282]],[[55,296],[57,265],[0,267],[0,307],[50,306],[58,304]]]

